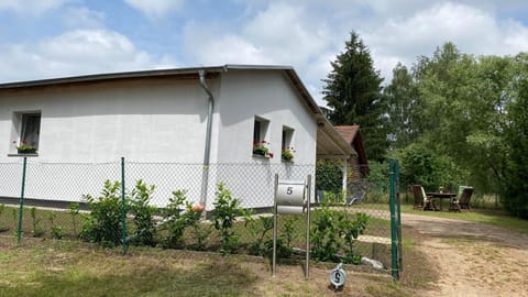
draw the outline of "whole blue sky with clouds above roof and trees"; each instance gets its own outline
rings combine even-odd
[[[447,41],[528,51],[524,0],[0,0],[0,82],[223,64],[292,65],[320,100],[351,31],[387,79]]]

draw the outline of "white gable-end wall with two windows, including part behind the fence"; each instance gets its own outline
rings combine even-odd
[[[273,206],[276,173],[282,179],[314,178],[317,123],[284,72],[229,69],[222,75],[216,105],[215,162],[226,165],[212,170],[211,182],[224,183],[244,207]],[[273,158],[252,153],[255,116],[270,121],[266,140]],[[294,162],[280,160],[283,127],[295,130]]]

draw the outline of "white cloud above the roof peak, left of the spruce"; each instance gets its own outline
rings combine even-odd
[[[302,6],[273,2],[237,29],[188,23],[183,44],[197,64],[292,65],[318,81],[333,59],[334,35],[324,21],[307,15]]]

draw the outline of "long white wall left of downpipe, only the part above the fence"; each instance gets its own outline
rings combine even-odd
[[[207,98],[197,81],[143,80],[19,91],[0,98],[0,160],[12,114],[40,110],[41,162],[201,162]]]

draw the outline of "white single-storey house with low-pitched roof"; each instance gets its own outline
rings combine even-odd
[[[36,153],[19,153],[25,142]],[[254,154],[266,142],[273,154]],[[294,158],[280,157],[295,147]],[[245,207],[273,204],[273,176],[315,175],[317,157],[352,147],[288,66],[180,68],[0,85],[0,197],[79,200],[105,179],[157,186],[156,204],[186,189],[211,208],[217,183]],[[346,162],[344,162],[345,164]]]

